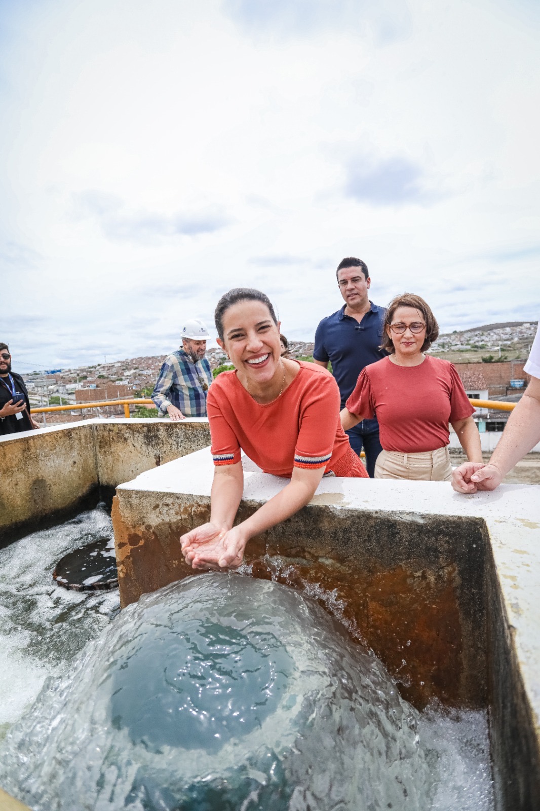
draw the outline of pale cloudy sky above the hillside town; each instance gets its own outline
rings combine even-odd
[[[289,338],[405,290],[540,315],[536,0],[0,0],[0,340],[14,367],[178,346],[255,286]]]

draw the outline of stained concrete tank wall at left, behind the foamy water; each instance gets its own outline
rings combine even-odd
[[[149,424],[150,423],[150,424]],[[210,442],[208,420],[85,420],[0,437],[0,544]]]

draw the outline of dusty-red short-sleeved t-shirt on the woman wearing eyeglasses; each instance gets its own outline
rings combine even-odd
[[[390,358],[366,366],[346,408],[362,419],[376,415],[380,444],[401,453],[444,448],[448,423],[474,414],[456,367],[431,355],[419,366],[396,366]]]

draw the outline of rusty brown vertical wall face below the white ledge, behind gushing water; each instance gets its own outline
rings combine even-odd
[[[239,517],[259,507],[242,504]],[[122,607],[188,577],[178,539],[207,521],[209,499],[118,489],[113,523]],[[485,550],[481,521],[311,505],[251,539],[251,574],[333,594],[327,607],[422,708],[486,705]]]

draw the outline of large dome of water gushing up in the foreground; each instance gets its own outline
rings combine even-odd
[[[49,679],[0,782],[50,811],[489,809],[485,758],[479,803],[445,793],[466,766],[438,732],[314,600],[211,573],[145,595]]]

